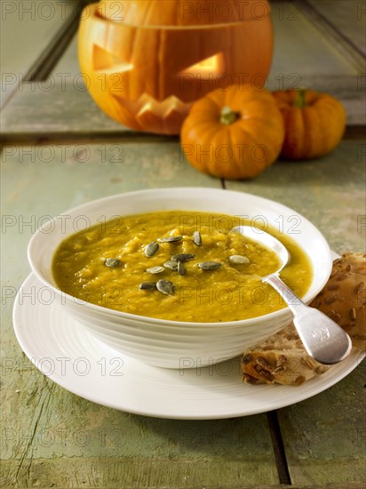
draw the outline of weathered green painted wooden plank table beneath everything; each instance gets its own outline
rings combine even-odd
[[[178,139],[131,132],[95,107],[78,84],[76,2],[48,2],[52,18],[45,19],[44,6],[30,20],[24,12],[20,19],[20,9],[42,2],[4,4],[1,487],[365,487],[364,363],[325,392],[275,412],[169,421],[61,389],[31,365],[12,330],[14,294],[29,273],[26,249],[37,224],[101,196],[235,189],[295,208],[335,252],[364,251],[364,3],[272,3],[268,87],[301,81],[332,92],[346,105],[348,127],[329,156],[279,161],[250,181],[198,173],[181,157]]]

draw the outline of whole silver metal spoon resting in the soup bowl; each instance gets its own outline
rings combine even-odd
[[[325,365],[337,364],[346,358],[352,349],[348,334],[320,310],[306,306],[279,277],[280,271],[290,259],[289,252],[283,244],[274,236],[251,226],[237,226],[232,229],[232,232],[264,244],[280,258],[282,263],[280,269],[267,277],[262,277],[262,280],[272,285],[291,309],[294,315],[293,323],[307,353],[317,362]]]

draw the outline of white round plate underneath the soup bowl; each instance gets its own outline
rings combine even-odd
[[[353,350],[341,364],[299,387],[243,384],[240,357],[202,369],[163,369],[121,355],[93,338],[65,315],[33,274],[22,287],[32,293],[24,298],[20,294],[15,301],[13,325],[32,363],[77,396],[128,413],[185,420],[263,413],[330,388],[364,357]]]

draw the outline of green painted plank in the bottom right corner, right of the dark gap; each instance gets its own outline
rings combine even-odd
[[[293,484],[366,484],[365,381],[362,361],[326,392],[279,410]]]

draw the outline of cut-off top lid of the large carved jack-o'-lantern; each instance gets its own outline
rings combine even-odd
[[[99,16],[144,27],[194,27],[264,20],[267,0],[100,0]]]

